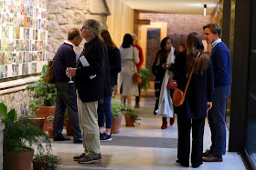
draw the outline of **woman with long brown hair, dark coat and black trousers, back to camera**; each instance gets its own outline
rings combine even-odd
[[[200,35],[190,33],[187,36],[187,52],[179,53],[176,56],[175,79],[179,89],[185,90],[188,77],[194,66],[185,101],[177,111],[178,148],[176,165],[189,165],[191,128],[191,164],[192,167],[203,165],[205,118],[211,108],[213,96],[213,67],[208,55],[203,50],[204,45]]]

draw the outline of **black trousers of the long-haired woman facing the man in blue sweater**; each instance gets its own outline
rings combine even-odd
[[[194,166],[202,164],[203,136],[205,119],[191,119],[184,115],[177,115],[178,146],[177,159],[182,165],[189,165],[190,155],[190,130],[192,127],[192,152],[191,164]]]

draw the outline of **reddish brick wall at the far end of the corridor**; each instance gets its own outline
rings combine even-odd
[[[203,37],[203,26],[210,23],[210,16],[204,15],[172,15],[140,13],[140,19],[150,19],[151,22],[166,22],[167,35],[174,40],[177,48],[180,44],[186,44],[187,35],[191,32]]]

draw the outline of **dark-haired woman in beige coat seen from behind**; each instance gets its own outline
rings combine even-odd
[[[120,92],[121,100],[127,104],[132,104],[132,97],[139,95],[138,84],[133,83],[133,74],[137,72],[134,63],[140,62],[137,48],[133,46],[132,35],[126,34],[123,36],[123,44],[119,47],[121,54],[122,71],[118,81],[118,92]]]

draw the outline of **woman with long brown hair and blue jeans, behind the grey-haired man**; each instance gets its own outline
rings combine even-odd
[[[108,50],[108,58],[110,64],[110,73],[111,73],[111,85],[112,91],[114,89],[114,85],[117,85],[117,74],[121,72],[121,56],[119,49],[112,42],[112,37],[107,30],[101,30],[100,37],[102,42],[107,47]],[[108,96],[104,98],[102,104],[98,105],[98,124],[100,131],[100,139],[102,141],[111,141],[111,128],[112,128],[112,96]],[[103,132],[104,122],[106,117],[106,130]]]

